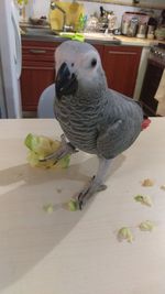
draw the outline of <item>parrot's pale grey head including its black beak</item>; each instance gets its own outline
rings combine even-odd
[[[78,89],[89,89],[101,79],[101,87],[107,81],[101,59],[97,50],[78,41],[63,42],[55,52],[56,96],[75,95]]]

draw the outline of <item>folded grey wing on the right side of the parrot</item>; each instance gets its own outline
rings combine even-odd
[[[98,126],[97,152],[113,159],[135,141],[142,130],[143,111],[133,99],[109,89],[103,123]]]

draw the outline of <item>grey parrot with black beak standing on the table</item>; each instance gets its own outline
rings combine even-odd
[[[96,192],[106,188],[111,161],[131,146],[147,122],[139,102],[108,88],[99,53],[92,45],[63,42],[55,52],[55,116],[65,135],[62,148],[47,159],[58,161],[78,150],[99,159],[96,176],[78,193],[81,209]]]

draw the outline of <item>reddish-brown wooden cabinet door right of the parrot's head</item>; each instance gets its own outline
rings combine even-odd
[[[109,88],[133,97],[141,51],[138,46],[105,46],[102,65]]]

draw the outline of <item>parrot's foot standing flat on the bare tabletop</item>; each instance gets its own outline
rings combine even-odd
[[[107,186],[105,184],[100,184],[97,181],[97,177],[94,176],[87,187],[85,187],[77,197],[78,207],[81,210],[87,200],[97,192],[105,190]]]

